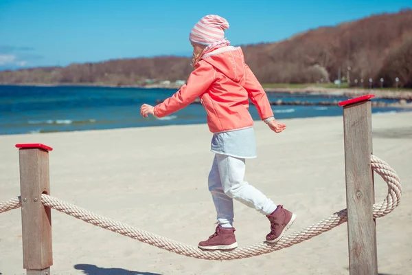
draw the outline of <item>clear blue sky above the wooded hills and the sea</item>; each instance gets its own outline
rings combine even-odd
[[[189,55],[190,30],[206,14],[225,17],[240,45],[402,8],[412,1],[0,0],[0,69]]]

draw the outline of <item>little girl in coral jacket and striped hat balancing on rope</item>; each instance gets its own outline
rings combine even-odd
[[[161,104],[155,107],[143,104],[140,108],[144,118],[149,114],[162,118],[199,97],[206,110],[209,131],[214,133],[211,152],[215,153],[208,184],[218,225],[209,239],[198,244],[203,250],[238,247],[233,228],[233,199],[266,215],[271,222],[271,232],[266,235],[268,243],[279,241],[296,217],[244,181],[245,159],[256,157],[249,98],[272,131],[280,133],[286,125],[273,117],[264,89],[244,63],[242,49],[230,46],[225,39],[228,28],[229,23],[218,15],[207,15],[198,21],[190,32],[194,71],[187,84]]]

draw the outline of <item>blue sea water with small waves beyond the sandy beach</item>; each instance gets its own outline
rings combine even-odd
[[[176,89],[141,89],[117,87],[31,87],[0,85],[0,135],[84,131],[141,126],[206,123],[201,104],[190,104],[165,118],[142,118],[141,104],[155,105],[172,96]],[[344,97],[322,94],[268,93],[270,101],[339,102]],[[392,102],[393,100],[376,101]],[[342,115],[342,107],[273,105],[275,118],[308,118]],[[249,111],[260,120],[256,107]],[[372,107],[372,112],[406,111],[394,107]]]

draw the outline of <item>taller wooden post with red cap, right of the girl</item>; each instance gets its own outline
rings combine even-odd
[[[374,177],[371,169],[371,101],[374,95],[339,102],[343,106],[347,233],[351,275],[378,275]]]

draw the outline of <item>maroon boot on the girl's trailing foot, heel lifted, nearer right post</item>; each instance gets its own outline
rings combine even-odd
[[[271,232],[266,235],[266,241],[268,243],[276,243],[295,221],[296,214],[289,212],[284,209],[283,206],[279,205],[275,212],[266,215],[266,217],[271,221]]]

